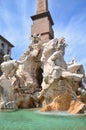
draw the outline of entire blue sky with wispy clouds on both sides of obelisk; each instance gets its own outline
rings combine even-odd
[[[65,37],[66,62],[74,57],[86,70],[86,0],[48,0],[55,38]],[[19,59],[31,43],[30,16],[36,14],[36,0],[0,0],[0,35],[15,47]]]

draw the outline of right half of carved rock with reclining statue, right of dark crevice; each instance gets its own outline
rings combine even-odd
[[[75,61],[67,66],[63,57],[65,47],[64,38],[52,40],[44,46],[41,58],[44,72],[40,92],[40,96],[44,97],[42,111],[68,110],[72,100],[77,100],[84,69]],[[77,108],[77,112],[79,110]]]

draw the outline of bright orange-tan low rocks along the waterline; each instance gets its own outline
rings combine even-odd
[[[48,112],[48,111],[67,111],[70,114],[77,114],[77,113],[85,113],[85,104],[80,102],[80,101],[72,101],[70,103],[70,106],[68,109],[63,109],[64,107],[62,106],[61,103],[58,103],[56,99],[50,103],[49,105],[44,106],[41,109],[41,112]],[[66,104],[65,104],[66,108]]]

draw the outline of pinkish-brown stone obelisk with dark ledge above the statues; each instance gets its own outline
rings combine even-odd
[[[37,0],[36,15],[31,16],[33,25],[31,35],[41,34],[43,41],[54,38],[52,25],[54,25],[50,11],[48,10],[48,0]]]

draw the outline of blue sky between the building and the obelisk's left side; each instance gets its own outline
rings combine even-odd
[[[19,2],[21,1],[15,0],[16,8],[13,10],[9,9],[11,6],[9,4],[12,4],[12,2],[7,4],[2,1],[0,7],[0,19],[2,20],[0,33],[14,44],[15,48],[13,48],[12,57],[16,59],[28,47],[31,29],[31,20],[29,20],[30,16],[28,16],[30,14],[27,14],[27,0],[22,0],[22,4]]]

